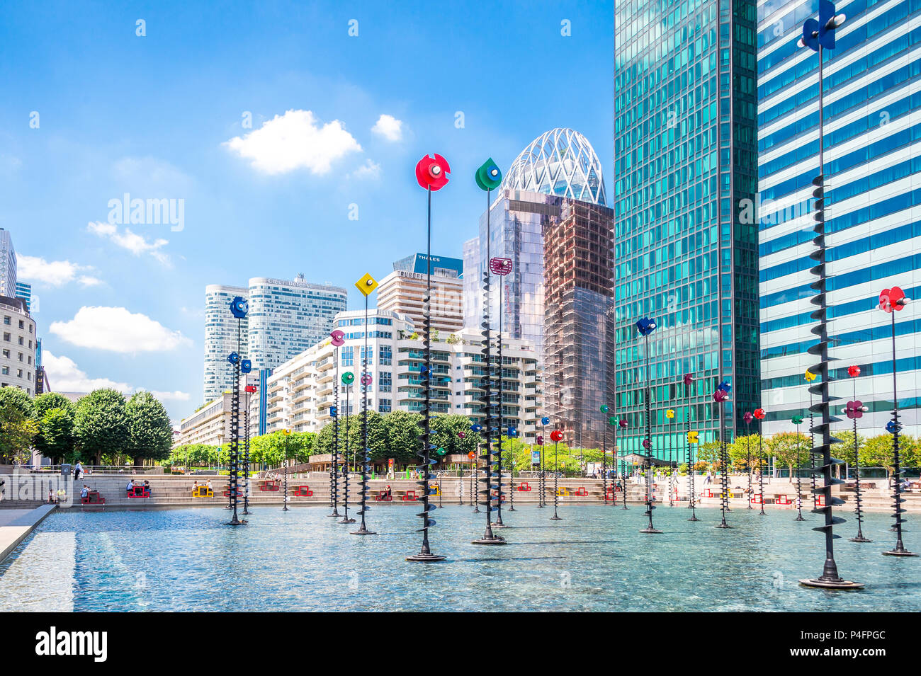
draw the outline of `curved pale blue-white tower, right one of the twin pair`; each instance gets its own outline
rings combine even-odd
[[[247,356],[253,371],[274,369],[328,338],[347,300],[342,287],[312,284],[300,274],[293,281],[251,279]]]

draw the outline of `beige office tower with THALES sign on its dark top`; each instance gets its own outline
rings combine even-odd
[[[426,254],[415,254],[393,264],[393,271],[380,281],[378,309],[409,315],[422,327],[426,296]],[[437,331],[463,328],[463,261],[432,257],[432,327]]]

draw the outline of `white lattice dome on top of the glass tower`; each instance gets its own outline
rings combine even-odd
[[[561,127],[542,133],[521,151],[502,187],[607,204],[595,149],[579,132]]]

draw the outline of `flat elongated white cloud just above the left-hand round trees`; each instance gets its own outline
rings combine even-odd
[[[123,307],[81,307],[74,318],[53,322],[52,334],[80,348],[112,352],[165,352],[192,345],[192,340],[146,315]]]

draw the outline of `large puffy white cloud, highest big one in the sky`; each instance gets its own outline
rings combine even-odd
[[[326,174],[332,162],[361,151],[361,145],[343,123],[332,120],[321,125],[310,110],[288,110],[262,124],[261,129],[224,143],[252,166],[266,174],[284,174],[307,168],[313,174]]]

